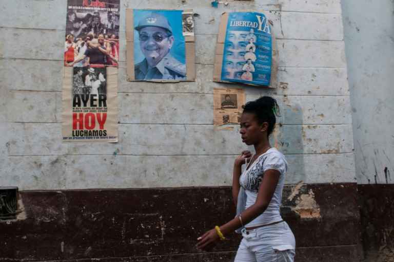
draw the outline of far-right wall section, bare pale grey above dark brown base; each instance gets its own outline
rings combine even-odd
[[[392,262],[394,3],[348,0],[342,9],[363,261]]]

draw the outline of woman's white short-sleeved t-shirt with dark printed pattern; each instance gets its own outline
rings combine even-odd
[[[287,171],[287,161],[285,156],[276,148],[268,149],[264,154],[260,155],[240,176],[240,184],[245,189],[246,207],[253,205],[257,200],[257,194],[264,172],[268,169],[274,169],[280,172],[279,181],[275,192],[272,195],[271,202],[267,209],[256,217],[253,221],[245,225],[245,227],[255,227],[267,225],[274,222],[282,221],[280,206],[282,201],[282,190],[285,182]]]

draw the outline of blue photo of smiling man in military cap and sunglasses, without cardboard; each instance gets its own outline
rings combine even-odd
[[[182,10],[133,10],[134,80],[186,80]]]

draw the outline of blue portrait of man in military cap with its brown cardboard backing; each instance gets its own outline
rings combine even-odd
[[[195,79],[192,10],[126,9],[127,80]]]

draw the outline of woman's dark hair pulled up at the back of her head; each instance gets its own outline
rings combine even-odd
[[[277,116],[280,116],[277,100],[270,96],[262,96],[257,100],[249,101],[242,106],[243,113],[256,115],[259,124],[268,123],[267,135],[269,136],[275,128]]]

